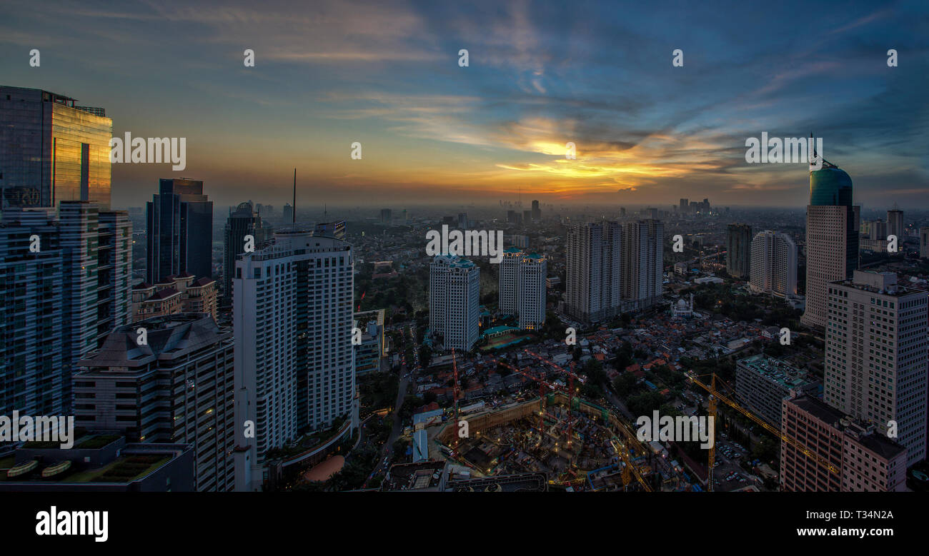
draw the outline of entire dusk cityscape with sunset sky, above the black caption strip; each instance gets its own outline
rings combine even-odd
[[[929,492],[929,10],[834,6],[11,8],[0,492]]]

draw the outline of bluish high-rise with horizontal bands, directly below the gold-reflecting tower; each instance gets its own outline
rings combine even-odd
[[[73,366],[129,322],[131,244],[128,215],[95,203],[61,201],[58,218],[51,209],[4,212],[0,415],[71,410]]]

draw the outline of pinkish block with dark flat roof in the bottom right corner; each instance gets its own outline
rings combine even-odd
[[[787,492],[907,490],[907,449],[810,395],[783,401],[784,434],[818,456],[780,443],[780,487]],[[829,465],[829,468],[825,467]]]

